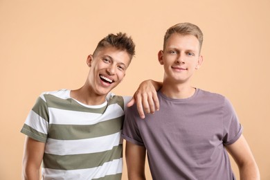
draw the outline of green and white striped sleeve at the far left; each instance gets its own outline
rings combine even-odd
[[[35,105],[30,110],[24,126],[21,128],[21,133],[26,134],[36,141],[46,143],[48,134],[48,107],[42,98],[37,98]]]

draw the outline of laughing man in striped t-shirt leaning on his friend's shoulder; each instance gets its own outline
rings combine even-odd
[[[41,164],[42,179],[121,179],[120,133],[131,98],[109,92],[123,80],[134,49],[125,33],[107,35],[87,57],[89,74],[80,89],[44,92],[37,98],[21,129],[26,134],[24,179],[39,179]],[[142,117],[143,107],[146,113],[159,108],[154,87],[159,84],[145,81],[135,93]]]

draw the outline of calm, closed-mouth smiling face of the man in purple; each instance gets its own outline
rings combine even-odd
[[[159,51],[159,62],[164,68],[164,82],[189,82],[202,62],[199,49],[199,41],[194,35],[172,34],[165,43],[164,50]]]

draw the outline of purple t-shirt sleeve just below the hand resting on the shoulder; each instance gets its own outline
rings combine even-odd
[[[138,121],[142,120],[138,115],[136,105],[128,107],[125,111],[125,120],[123,125],[122,137],[125,140],[136,145],[144,145],[138,129]]]

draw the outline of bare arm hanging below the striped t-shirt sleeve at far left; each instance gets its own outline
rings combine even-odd
[[[39,169],[43,159],[44,147],[45,143],[35,141],[33,138],[26,136],[24,145],[22,179],[39,179]]]

